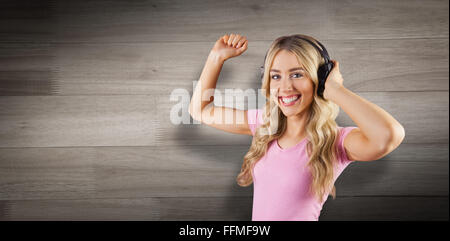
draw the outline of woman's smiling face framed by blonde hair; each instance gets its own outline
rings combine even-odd
[[[297,57],[280,50],[270,69],[270,90],[275,103],[287,117],[309,109],[314,97],[314,83],[308,78]],[[274,92],[272,92],[274,91]]]

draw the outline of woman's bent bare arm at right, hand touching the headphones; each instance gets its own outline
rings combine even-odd
[[[350,160],[377,160],[395,150],[405,137],[403,126],[381,107],[345,88],[337,61],[332,71],[324,97],[339,105],[358,125],[344,140]]]

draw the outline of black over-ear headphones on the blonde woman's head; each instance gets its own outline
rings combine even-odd
[[[327,80],[328,75],[330,74],[331,70],[333,69],[333,62],[331,62],[330,60],[330,56],[328,55],[328,51],[327,49],[319,42],[317,41],[317,43],[320,45],[320,47],[322,49],[320,49],[316,44],[314,44],[311,40],[306,39],[304,37],[301,37],[299,35],[294,35],[295,37],[299,38],[299,39],[303,39],[305,41],[307,41],[308,43],[310,43],[312,46],[314,46],[314,48],[316,48],[320,55],[322,55],[322,57],[325,60],[325,63],[319,66],[319,69],[317,70],[317,77],[319,80],[319,86],[317,88],[317,95],[323,98],[323,91],[325,90],[325,81]],[[264,56],[264,64],[266,63],[266,57],[267,57],[267,53],[266,56]],[[263,79],[264,77],[264,64],[263,66],[261,66],[261,79]]]

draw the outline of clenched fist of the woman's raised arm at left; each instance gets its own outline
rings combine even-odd
[[[239,34],[230,34],[220,37],[211,53],[221,58],[223,61],[241,55],[247,50],[248,40]]]

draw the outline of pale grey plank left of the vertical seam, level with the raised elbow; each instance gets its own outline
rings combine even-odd
[[[10,143],[6,144],[9,146],[156,143],[157,113],[154,106],[157,98],[152,96],[71,96],[56,99],[29,96],[0,99],[0,142]],[[117,139],[117,135],[121,138]]]

